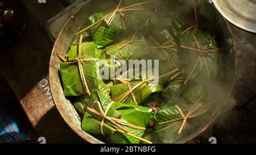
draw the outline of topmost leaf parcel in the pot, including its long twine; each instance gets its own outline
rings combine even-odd
[[[154,12],[147,9],[149,3],[152,2],[123,6],[122,1],[120,1],[115,10],[98,12],[90,16],[89,22],[91,25],[77,34],[91,28],[90,35],[97,48],[105,47],[117,40],[122,32],[131,35],[138,30],[138,27],[146,26],[146,23],[154,14]]]

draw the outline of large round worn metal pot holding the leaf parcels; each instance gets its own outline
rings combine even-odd
[[[163,0],[162,2],[168,3],[165,6],[170,7],[170,10],[174,12],[176,11],[178,14],[182,11],[185,12],[185,14],[193,15],[191,0]],[[115,8],[117,3],[118,1],[113,0],[87,1],[79,10],[77,10],[77,12],[75,12],[75,14],[72,15],[61,30],[53,47],[51,62],[49,64],[49,82],[52,96],[60,115],[77,135],[89,143],[102,143],[102,141],[82,130],[80,116],[77,114],[72,104],[65,99],[59,78],[60,60],[56,56],[56,53],[61,55],[67,53],[69,46],[77,38],[75,33],[85,26],[85,20],[89,15],[92,15],[94,12],[105,10],[106,6]],[[200,22],[207,26],[209,31],[216,34],[221,53],[221,66],[224,70],[223,73],[225,73],[222,76],[223,78],[219,80],[220,85],[223,86],[223,91],[221,96],[216,100],[216,107],[212,109],[212,112],[208,116],[205,116],[205,118],[210,116],[210,119],[204,124],[200,124],[197,128],[193,129],[193,131],[190,131],[187,136],[177,139],[175,143],[186,143],[213,123],[218,114],[225,108],[225,104],[230,98],[236,81],[237,50],[228,23],[220,12],[206,0],[197,0],[197,8]]]

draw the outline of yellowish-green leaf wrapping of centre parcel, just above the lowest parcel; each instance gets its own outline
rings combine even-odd
[[[130,82],[131,89],[133,89],[133,87],[138,85],[140,82],[141,81]],[[110,90],[112,99],[114,99],[129,91],[129,87],[126,83],[121,83],[110,87]],[[152,93],[157,93],[160,91],[163,91],[162,84],[143,83],[141,86],[133,91],[133,94],[138,104],[141,104],[143,100],[149,97]],[[136,104],[131,94],[129,94],[125,99],[121,100],[121,103]]]

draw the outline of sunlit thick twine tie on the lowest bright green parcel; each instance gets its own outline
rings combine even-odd
[[[101,103],[98,102],[97,100],[93,102],[93,105],[92,105],[92,108],[90,107],[87,107],[87,110],[89,112],[92,112],[93,114],[97,115],[97,116],[100,116],[102,118],[101,120],[101,124],[100,124],[100,128],[101,128],[101,133],[102,135],[105,136],[105,133],[104,133],[104,123],[105,123],[105,120],[108,120],[110,123],[114,124],[116,127],[120,128],[122,131],[124,132],[128,132],[124,127],[122,127],[122,125],[124,126],[127,126],[127,127],[130,127],[130,128],[135,128],[135,129],[141,129],[141,130],[146,130],[146,128],[144,127],[139,127],[137,125],[133,125],[133,124],[129,124],[126,120],[122,120],[122,119],[117,119],[117,118],[112,118],[112,117],[109,117],[107,116],[108,114],[108,111],[110,109],[110,107],[114,104],[115,102],[111,102],[108,107],[106,108],[106,111],[103,110],[102,106],[101,106]],[[93,108],[94,104],[97,104],[98,105],[98,108],[100,109],[100,111],[97,111]]]

